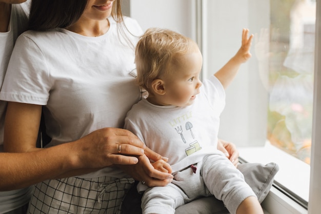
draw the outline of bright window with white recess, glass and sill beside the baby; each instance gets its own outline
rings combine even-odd
[[[226,91],[220,138],[235,143],[246,161],[278,163],[276,184],[307,208],[316,105],[317,3],[217,0],[202,4],[206,11],[202,22],[206,28],[202,40],[204,77],[237,51],[242,28],[254,34],[252,58],[242,65]]]

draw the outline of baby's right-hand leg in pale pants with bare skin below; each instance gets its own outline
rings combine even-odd
[[[232,214],[263,214],[262,207],[245,182],[243,174],[223,153],[207,155],[203,159],[200,174],[209,191],[215,198],[222,200]]]

